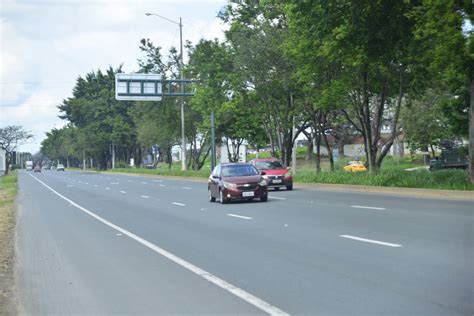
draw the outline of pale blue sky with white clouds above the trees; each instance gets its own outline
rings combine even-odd
[[[0,127],[20,125],[34,137],[19,151],[36,153],[46,132],[61,128],[57,106],[79,76],[123,64],[138,71],[139,41],[179,47],[224,38],[217,13],[227,0],[0,0]],[[185,52],[186,56],[186,52]],[[186,62],[186,60],[185,60]]]

